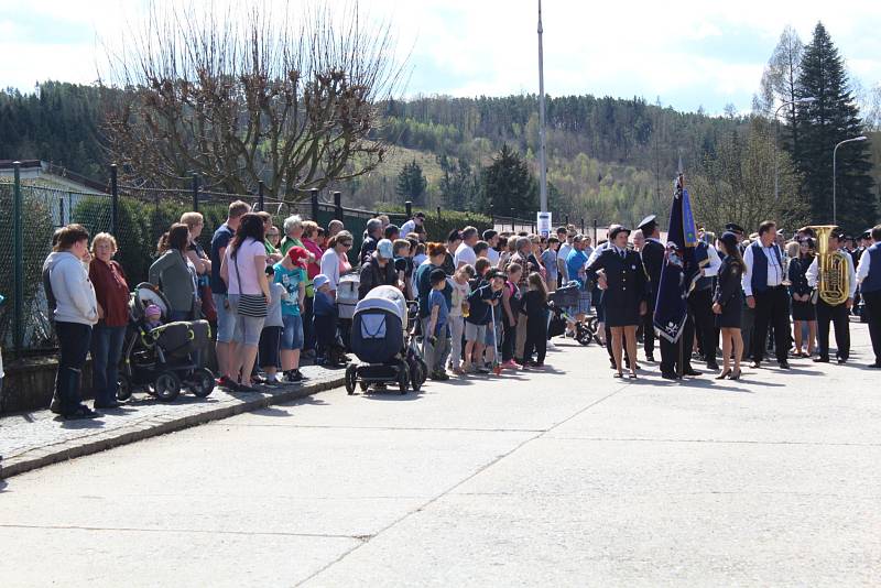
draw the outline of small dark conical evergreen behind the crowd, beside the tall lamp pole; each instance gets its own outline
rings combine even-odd
[[[508,146],[492,159],[483,170],[482,195],[485,205],[493,214],[507,216],[514,209],[516,215],[529,218],[539,209],[539,189],[523,157]]]

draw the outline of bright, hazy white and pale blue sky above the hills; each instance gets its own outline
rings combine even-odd
[[[0,0],[0,87],[96,80],[102,47],[119,42],[144,7]],[[537,92],[536,0],[361,0],[360,8],[392,24],[410,72],[407,96]],[[544,0],[545,91],[639,96],[708,113],[730,104],[748,112],[783,28],[807,44],[817,21],[862,88],[881,84],[881,0]]]

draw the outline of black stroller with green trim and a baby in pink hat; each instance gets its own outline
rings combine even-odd
[[[123,345],[122,368],[117,399],[128,400],[135,388],[164,402],[171,402],[186,386],[198,398],[214,390],[214,373],[205,367],[206,348],[211,339],[207,320],[177,322],[150,328],[146,306],[155,304],[163,318],[168,301],[153,284],[138,284],[129,303],[129,326]]]

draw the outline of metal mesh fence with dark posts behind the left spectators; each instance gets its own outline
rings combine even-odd
[[[160,237],[186,211],[197,210],[205,217],[199,240],[206,249],[233,200],[267,210],[279,225],[294,214],[322,227],[339,219],[355,237],[354,257],[360,249],[365,224],[380,214],[344,207],[339,192],[331,195],[333,202],[320,199],[318,190],[313,190],[309,199],[289,203],[264,196],[262,186],[254,194],[204,190],[198,178],[188,189],[124,186],[117,183],[115,167],[105,189],[100,187],[95,182],[81,190],[30,184],[20,179],[18,168],[11,182],[0,181],[0,294],[6,300],[0,306],[0,345],[6,351],[21,356],[56,348],[42,268],[52,250],[53,232],[67,224],[78,222],[93,236],[112,233],[119,246],[117,260],[133,285],[146,280]],[[400,225],[409,214],[392,213],[389,217]]]

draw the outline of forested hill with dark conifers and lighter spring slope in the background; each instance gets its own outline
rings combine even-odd
[[[420,204],[485,208],[480,170],[504,143],[537,175],[536,96],[416,98],[381,108],[384,119],[377,138],[398,149],[374,173],[336,186],[347,202],[371,207],[402,203],[395,193],[398,175],[404,163],[416,160],[427,178]],[[99,91],[91,86],[51,81],[33,94],[0,92],[0,159],[42,159],[102,177],[106,153],[99,123]],[[573,218],[632,222],[661,209],[679,156],[686,171],[695,168],[726,134],[743,126],[739,118],[682,113],[641,98],[551,98],[552,207]]]

